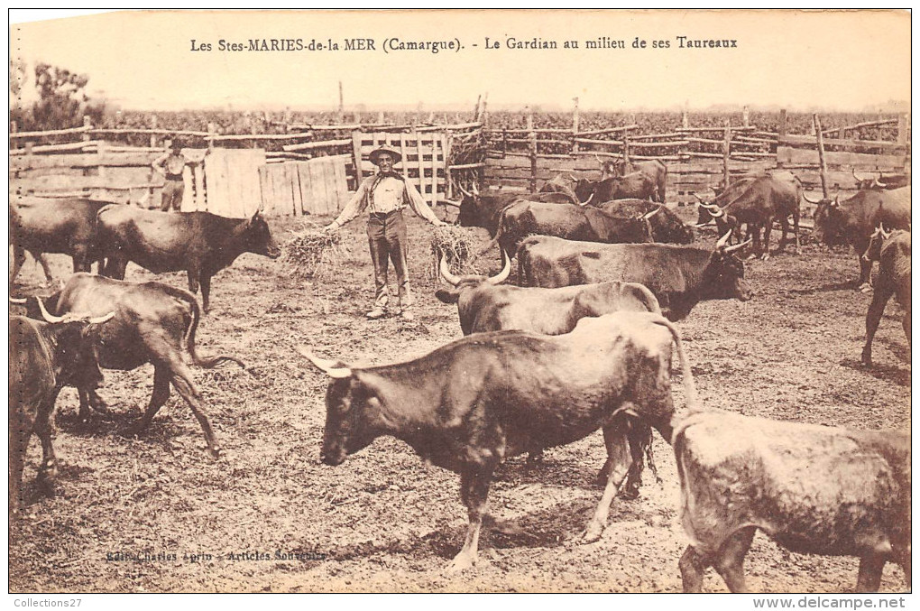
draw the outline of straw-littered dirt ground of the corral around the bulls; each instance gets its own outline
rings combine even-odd
[[[300,223],[271,221],[279,242]],[[149,364],[106,372],[100,394],[114,411],[109,420],[78,424],[76,393],[64,389],[53,497],[34,483],[40,444],[33,438],[29,446],[28,506],[11,527],[10,591],[679,592],[687,539],[676,522],[673,454],[657,434],[661,481],[646,471],[639,498],[615,501],[604,536],[591,545],[576,541],[600,498],[593,480],[604,459],[601,434],[547,451],[541,467],[510,460],[489,507],[521,533],[484,532],[478,566],[459,575],[444,571],[466,533],[458,476],[424,465],[393,438],[339,467],[319,463],[327,378],[296,346],[378,364],[461,337],[455,306],[433,296],[430,225],[413,217],[409,234],[413,322],[364,318],[373,279],[361,220],[343,229],[341,259],[319,281],[296,281],[281,261],[251,254],[214,278],[200,352],[233,354],[258,374],[234,364],[195,370],[224,448],[220,460],[205,452],[198,422],[175,392],[147,432],[124,436],[149,399]],[[482,243],[486,237],[482,231]],[[702,236],[707,246],[714,241]],[[69,275],[69,259],[52,263],[56,277]],[[807,245],[748,264],[753,300],[697,305],[678,327],[703,402],[790,421],[907,429],[911,365],[900,306],[889,304],[876,366],[864,369],[870,298],[852,288],[856,276],[853,254]],[[129,267],[128,280],[152,277]],[[184,274],[161,279],[186,286]],[[20,294],[39,292],[38,267],[27,263],[20,282]],[[683,408],[680,384],[674,396]],[[789,553],[760,534],[746,572],[753,591],[848,592],[857,564]],[[725,591],[714,571],[704,588]],[[882,590],[904,588],[901,569],[889,564]]]

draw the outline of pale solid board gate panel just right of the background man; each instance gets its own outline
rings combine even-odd
[[[233,218],[252,216],[262,207],[259,167],[264,165],[265,151],[259,148],[213,149],[204,157],[204,176],[199,174],[201,167],[194,168],[195,184],[205,185],[204,190],[194,192],[194,197],[189,196],[190,171],[186,168],[182,211],[204,210]]]

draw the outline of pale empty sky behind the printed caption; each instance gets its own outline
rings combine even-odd
[[[570,110],[578,97],[598,110],[868,110],[910,100],[910,25],[904,11],[122,11],[12,23],[10,44],[29,65],[89,75],[91,95],[126,109],[332,109],[340,81],[346,110],[466,109],[486,92],[492,108]],[[679,37],[737,46],[682,49]],[[248,50],[271,39],[339,50]],[[360,39],[374,50],[345,50]],[[394,39],[456,49],[398,50]]]

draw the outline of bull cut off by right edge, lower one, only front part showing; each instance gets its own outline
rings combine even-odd
[[[869,239],[863,259],[879,261],[879,278],[866,313],[866,345],[862,352],[862,363],[871,366],[872,340],[891,295],[896,295],[903,307],[901,325],[907,345],[911,344],[911,232],[895,229],[886,234],[880,226]]]

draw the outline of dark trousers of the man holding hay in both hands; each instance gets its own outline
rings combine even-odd
[[[367,220],[367,240],[374,262],[374,307],[385,309],[389,304],[386,276],[392,260],[399,284],[398,307],[408,310],[414,300],[408,286],[408,237],[402,211],[371,213]]]

